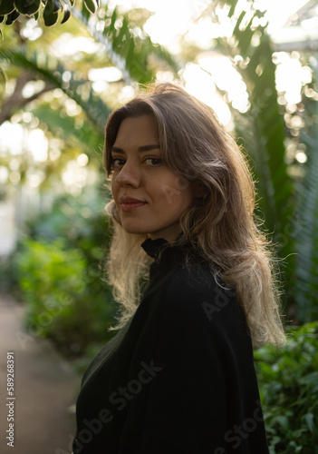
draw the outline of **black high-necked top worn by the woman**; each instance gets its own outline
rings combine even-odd
[[[92,361],[74,454],[268,454],[251,338],[234,291],[195,251],[155,259],[130,321]],[[192,255],[191,255],[192,253]]]

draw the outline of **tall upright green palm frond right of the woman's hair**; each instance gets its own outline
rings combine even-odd
[[[295,122],[289,122],[290,125],[284,121],[291,114],[277,102],[275,52],[266,32],[265,12],[257,9],[257,2],[249,2],[242,10],[237,0],[219,0],[207,6],[205,15],[212,14],[215,21],[222,16],[224,21],[225,12],[227,23],[232,25],[232,35],[215,39],[212,47],[228,55],[249,94],[246,113],[237,112],[235,108],[232,113],[237,140],[247,149],[254,170],[257,213],[261,219],[265,218],[265,229],[273,237],[280,258],[287,312],[294,322],[314,320],[318,315],[318,96],[314,83],[312,87],[306,85],[304,93],[311,93],[306,102],[308,108],[300,106],[301,113],[296,106]],[[312,65],[316,62],[314,58],[308,60]],[[284,94],[279,95],[284,97]],[[299,150],[306,150],[306,164],[291,161],[286,156],[287,139],[293,137],[294,140],[294,136],[299,135],[294,129],[294,124],[299,122],[306,125],[301,130],[300,140],[296,141]]]

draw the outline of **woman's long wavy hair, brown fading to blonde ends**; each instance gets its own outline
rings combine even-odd
[[[226,286],[236,289],[255,347],[284,344],[275,260],[255,222],[255,186],[244,153],[206,104],[177,84],[150,84],[114,111],[106,124],[104,165],[109,176],[111,146],[120,123],[142,114],[155,119],[166,165],[178,173],[185,187],[194,181],[204,187],[203,199],[194,199],[180,219],[183,235],[178,245],[190,242]],[[122,326],[140,301],[140,284],[147,280],[150,260],[140,248],[146,235],[122,229],[113,201],[107,211],[114,221],[108,280],[122,303]]]

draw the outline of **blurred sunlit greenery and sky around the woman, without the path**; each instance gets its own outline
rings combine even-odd
[[[24,3],[0,3],[0,281],[24,333],[76,383],[114,334],[103,128],[138,84],[177,80],[246,149],[275,245],[290,341],[255,352],[271,453],[317,453],[317,0]]]

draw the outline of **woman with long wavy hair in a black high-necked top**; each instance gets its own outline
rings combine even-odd
[[[252,345],[284,331],[243,154],[154,84],[111,114],[104,163],[123,311],[82,380],[74,454],[268,453]]]

